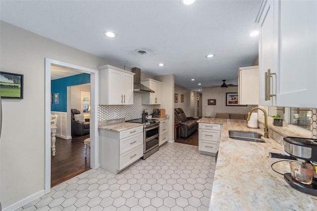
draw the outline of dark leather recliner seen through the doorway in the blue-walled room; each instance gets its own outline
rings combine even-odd
[[[84,119],[79,110],[71,109],[71,135],[83,136],[90,132],[90,119]]]

